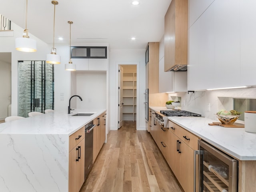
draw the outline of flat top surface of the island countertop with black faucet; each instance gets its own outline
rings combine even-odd
[[[54,111],[0,124],[0,134],[68,134],[71,135],[106,109],[76,109],[71,114]],[[91,116],[72,116],[76,113],[94,113]]]

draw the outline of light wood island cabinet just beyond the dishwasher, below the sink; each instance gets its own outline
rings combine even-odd
[[[93,128],[93,154],[92,162],[96,160],[102,145],[106,140],[106,112],[100,114],[93,120],[93,124],[96,125]]]

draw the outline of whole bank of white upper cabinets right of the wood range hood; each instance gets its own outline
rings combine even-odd
[[[255,10],[253,0],[215,0],[190,26],[188,90],[256,85]]]

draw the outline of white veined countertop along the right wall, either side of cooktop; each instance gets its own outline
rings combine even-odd
[[[170,110],[165,107],[150,108],[156,112]],[[168,117],[168,119],[237,160],[256,160],[256,133],[246,132],[244,128],[210,126],[208,123],[218,120],[204,117]]]

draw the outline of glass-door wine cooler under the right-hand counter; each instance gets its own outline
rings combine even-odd
[[[237,192],[238,160],[214,146],[198,141],[200,147],[200,192]]]

